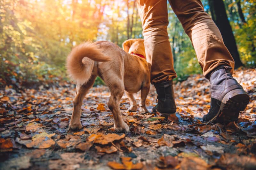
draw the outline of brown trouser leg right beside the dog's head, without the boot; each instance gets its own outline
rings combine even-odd
[[[166,0],[137,0],[143,28],[147,61],[151,64],[150,82],[157,84],[177,77],[167,33]]]

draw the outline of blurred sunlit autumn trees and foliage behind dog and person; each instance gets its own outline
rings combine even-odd
[[[220,28],[236,68],[256,67],[256,1],[202,3]],[[202,70],[169,3],[168,15],[176,81],[182,81]],[[0,87],[68,80],[65,61],[72,47],[87,40],[122,47],[130,38],[143,38],[134,0],[0,0]]]

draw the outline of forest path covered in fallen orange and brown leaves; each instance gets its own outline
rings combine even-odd
[[[94,87],[84,99],[81,131],[68,131],[75,86],[0,90],[0,169],[256,169],[256,70],[234,76],[251,97],[239,121],[205,124],[210,108],[209,82],[202,75],[175,84],[177,113],[127,112],[120,109],[128,133],[113,131],[107,87]],[[136,94],[139,100],[140,93]],[[156,92],[151,87],[147,107]]]

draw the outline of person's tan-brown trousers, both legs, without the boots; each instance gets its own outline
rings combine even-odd
[[[234,68],[234,60],[223,43],[220,31],[204,11],[201,1],[169,0],[169,3],[195,48],[204,76],[223,64]],[[177,75],[167,33],[167,1],[137,0],[137,6],[147,61],[151,63],[150,81],[152,84],[170,81]]]

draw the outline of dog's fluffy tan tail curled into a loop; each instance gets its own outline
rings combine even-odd
[[[67,58],[67,72],[73,81],[79,84],[89,81],[94,61],[109,61],[96,45],[86,42],[72,49]]]

